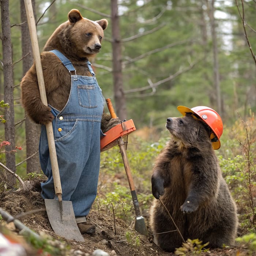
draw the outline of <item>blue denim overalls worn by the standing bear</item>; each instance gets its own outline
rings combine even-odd
[[[72,63],[59,51],[52,50],[68,71]],[[62,199],[72,201],[76,217],[89,214],[97,195],[100,166],[101,116],[104,98],[93,76],[71,75],[71,90],[65,107],[58,111],[52,106],[52,122],[62,187]],[[67,71],[67,72],[68,72]],[[41,184],[42,197],[56,198],[49,157],[45,125],[41,126],[39,142],[41,168],[48,180]]]

